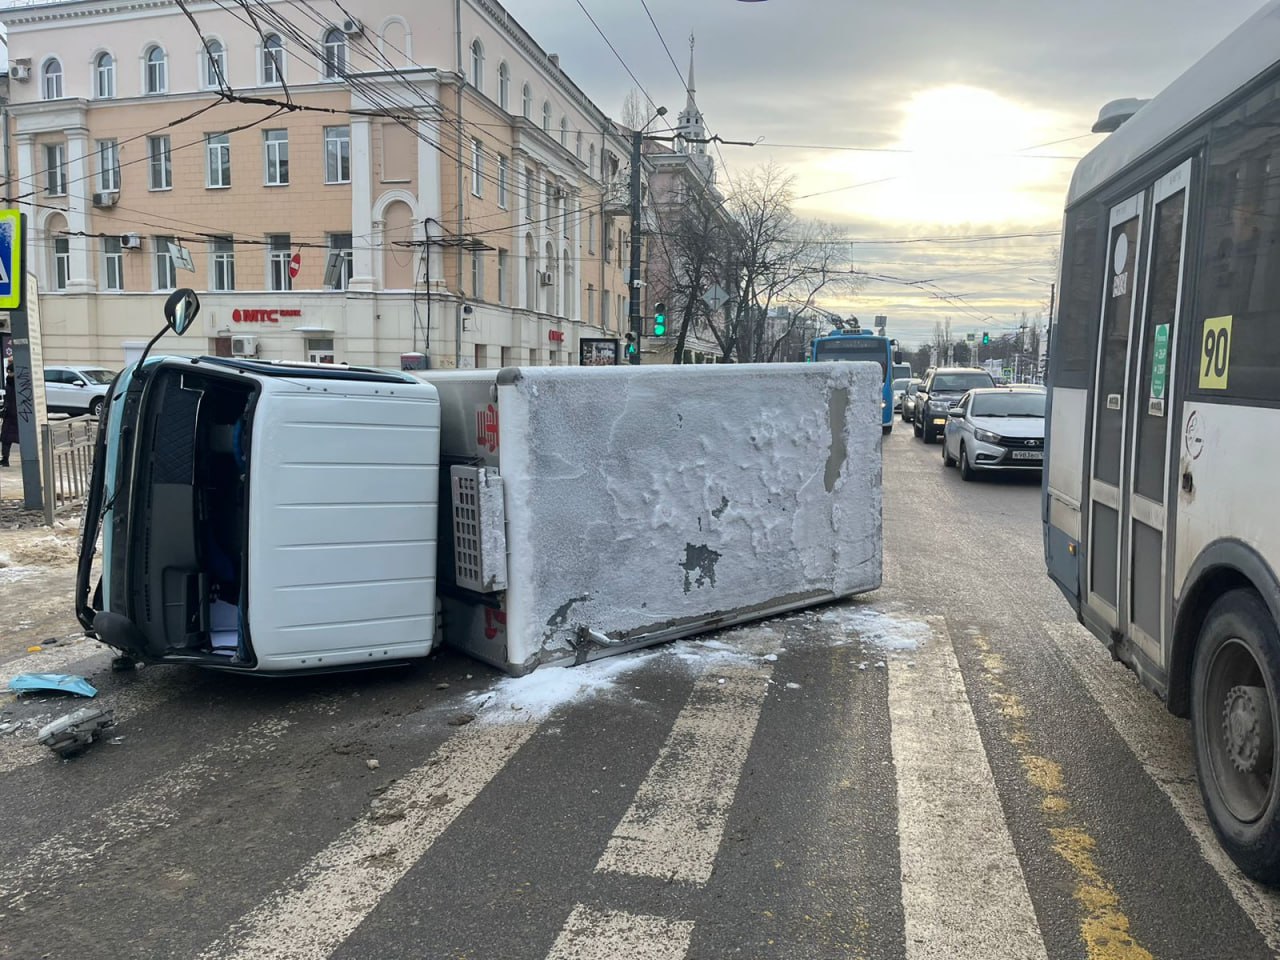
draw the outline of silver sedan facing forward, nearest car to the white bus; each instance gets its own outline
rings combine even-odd
[[[1041,390],[993,387],[969,390],[951,408],[942,435],[942,462],[960,476],[1044,466],[1044,401]]]

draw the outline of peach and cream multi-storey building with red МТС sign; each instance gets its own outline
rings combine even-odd
[[[0,10],[46,356],[576,362],[626,329],[627,141],[493,0]],[[195,23],[192,22],[195,20]]]

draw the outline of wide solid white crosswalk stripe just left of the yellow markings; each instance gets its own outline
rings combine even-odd
[[[945,625],[890,660],[908,960],[1046,956]]]

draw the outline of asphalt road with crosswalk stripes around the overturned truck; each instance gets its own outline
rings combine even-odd
[[[58,762],[29,740],[65,707],[0,703],[0,957],[1274,956],[1280,899],[1038,517],[899,425],[859,603],[518,682],[0,663],[119,718]]]

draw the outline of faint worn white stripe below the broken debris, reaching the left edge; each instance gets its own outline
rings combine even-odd
[[[255,755],[271,750],[291,726],[285,719],[255,723],[237,733],[233,742],[193,756],[161,777],[141,783],[127,800],[78,822],[74,829],[45,838],[20,860],[0,868],[0,904],[22,908],[29,897],[55,892],[59,882],[113,847],[178,822],[186,812],[180,805],[183,800],[232,776],[239,764]]]

